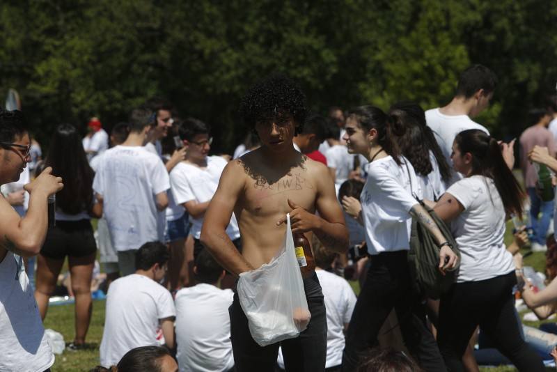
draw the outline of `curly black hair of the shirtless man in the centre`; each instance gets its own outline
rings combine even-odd
[[[307,113],[306,95],[285,75],[267,77],[249,88],[240,102],[240,115],[249,127],[262,121],[285,121],[291,117],[298,134],[303,130]]]

